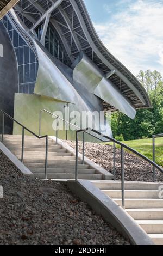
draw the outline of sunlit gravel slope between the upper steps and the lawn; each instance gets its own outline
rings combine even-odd
[[[64,141],[72,148],[76,142]],[[82,142],[79,142],[79,152],[82,153]],[[111,145],[85,142],[85,156],[112,173],[113,147]],[[124,152],[125,179],[128,181],[153,182],[153,167],[140,157]],[[116,179],[121,180],[121,150],[116,149]],[[163,182],[163,174],[156,170],[156,181]]]

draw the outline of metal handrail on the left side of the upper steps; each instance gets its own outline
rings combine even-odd
[[[17,120],[15,120],[14,118],[12,118],[9,114],[5,113],[2,109],[0,109],[0,112],[3,114],[2,116],[2,137],[1,137],[1,142],[3,143],[3,138],[4,138],[4,117],[8,117],[9,119],[11,119],[13,122],[15,122],[16,124],[20,125],[22,127],[22,154],[21,154],[21,162],[23,162],[23,158],[24,158],[24,131],[28,131],[29,133],[31,133],[33,136],[39,138],[39,139],[43,139],[46,138],[46,149],[45,149],[45,179],[47,179],[47,161],[48,161],[48,135],[44,135],[44,136],[38,136],[36,135],[36,133],[34,133],[33,131],[30,131],[26,126],[22,125],[21,123],[19,123]]]

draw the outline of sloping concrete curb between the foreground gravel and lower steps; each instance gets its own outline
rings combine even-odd
[[[121,234],[128,237],[132,245],[154,245],[147,233],[130,215],[106,196],[90,181],[68,181],[70,190],[84,200],[104,220],[113,225]]]

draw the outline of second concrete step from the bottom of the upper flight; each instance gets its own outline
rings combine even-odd
[[[30,168],[33,173],[45,173],[45,168]],[[48,168],[48,173],[75,173],[75,169],[62,169],[62,168]],[[95,174],[95,169],[79,169],[80,174]]]

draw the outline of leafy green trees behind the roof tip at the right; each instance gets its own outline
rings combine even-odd
[[[114,136],[123,135],[125,140],[152,137],[163,132],[163,81],[160,72],[140,71],[137,78],[147,90],[152,109],[138,109],[134,120],[121,112],[112,114],[111,127]]]

